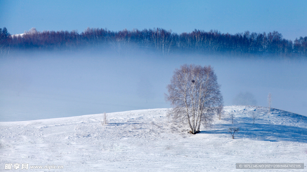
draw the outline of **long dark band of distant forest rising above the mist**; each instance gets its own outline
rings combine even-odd
[[[84,47],[125,49],[145,48],[162,54],[191,51],[201,54],[229,52],[236,54],[285,54],[307,56],[307,36],[294,42],[282,38],[277,31],[269,33],[221,33],[217,30],[194,30],[189,33],[173,33],[162,28],[110,31],[102,28],[87,28],[80,34],[73,31],[43,31],[35,28],[24,34],[11,36],[6,28],[1,29],[1,53],[10,49],[81,49]]]

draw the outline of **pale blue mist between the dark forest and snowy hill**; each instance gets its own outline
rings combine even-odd
[[[168,108],[166,85],[185,63],[214,67],[226,106],[267,106],[271,93],[271,107],[307,115],[302,59],[86,50],[15,52],[0,60],[2,122]]]

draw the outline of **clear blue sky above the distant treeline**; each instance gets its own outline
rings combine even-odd
[[[118,31],[164,28],[173,32],[217,29],[222,33],[282,33],[295,40],[307,36],[306,0],[0,0],[0,27],[20,34],[87,27]]]

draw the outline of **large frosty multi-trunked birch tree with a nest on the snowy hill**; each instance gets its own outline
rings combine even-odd
[[[167,89],[169,95],[165,94],[165,99],[173,107],[169,116],[188,124],[192,134],[200,132],[201,124],[210,125],[223,105],[220,85],[210,65],[182,65],[175,69]]]

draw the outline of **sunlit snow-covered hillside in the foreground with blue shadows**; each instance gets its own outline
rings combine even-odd
[[[63,166],[35,171],[289,171],[236,170],[236,163],[305,163],[306,169],[307,117],[268,114],[265,107],[224,110],[196,135],[170,122],[168,109],[109,113],[107,125],[103,114],[0,122],[0,169],[7,163],[29,163],[29,171],[35,165]],[[229,127],[240,129],[235,139]]]

